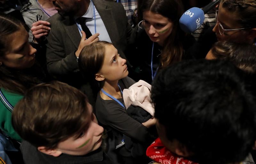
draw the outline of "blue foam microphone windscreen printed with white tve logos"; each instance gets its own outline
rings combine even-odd
[[[180,28],[186,32],[191,33],[196,31],[204,22],[204,12],[203,10],[193,7],[188,9],[181,17],[180,17]]]

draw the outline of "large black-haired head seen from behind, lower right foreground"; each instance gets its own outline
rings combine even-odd
[[[256,105],[244,72],[228,61],[184,61],[152,84],[155,117],[201,164],[245,159],[255,142]]]

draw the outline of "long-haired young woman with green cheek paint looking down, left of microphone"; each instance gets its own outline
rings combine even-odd
[[[158,70],[187,58],[186,50],[195,40],[179,27],[184,12],[181,0],[144,0],[139,10],[143,20],[136,40],[138,55],[129,61],[137,66],[139,79],[151,83]]]

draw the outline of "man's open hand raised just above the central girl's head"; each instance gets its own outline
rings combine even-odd
[[[86,39],[86,35],[85,35],[84,31],[81,31],[81,33],[82,33],[82,39],[81,39],[80,44],[78,46],[78,49],[75,53],[76,57],[79,57],[80,52],[83,50],[84,46],[99,41],[99,37],[98,37],[100,35],[99,33],[96,33],[96,34],[92,35],[88,39]]]

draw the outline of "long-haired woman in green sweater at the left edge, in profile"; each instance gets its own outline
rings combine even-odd
[[[0,129],[8,137],[21,142],[11,123],[13,106],[31,86],[44,78],[36,64],[34,49],[28,43],[28,32],[22,23],[0,15]]]

